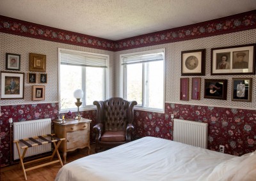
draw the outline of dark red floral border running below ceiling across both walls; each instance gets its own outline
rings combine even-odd
[[[112,41],[0,15],[0,32],[83,47],[120,51],[256,28],[256,10],[197,24]]]

